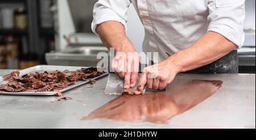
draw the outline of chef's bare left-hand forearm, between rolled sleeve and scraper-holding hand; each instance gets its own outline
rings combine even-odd
[[[119,22],[108,21],[97,26],[96,31],[100,35],[102,43],[108,48],[115,48],[115,52],[125,49],[134,49],[133,44],[126,37],[125,27]]]

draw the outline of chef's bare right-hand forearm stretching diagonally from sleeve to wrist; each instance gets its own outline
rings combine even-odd
[[[195,44],[168,58],[169,62],[185,72],[207,65],[236,49],[237,45],[216,32],[208,32]]]

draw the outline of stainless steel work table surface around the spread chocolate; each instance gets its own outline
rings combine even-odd
[[[0,75],[10,70],[0,70]],[[222,80],[220,90],[166,125],[80,118],[117,95],[103,95],[108,78],[65,92],[73,100],[52,103],[55,96],[0,95],[0,128],[255,128],[254,74],[181,74],[181,79]],[[88,88],[90,87],[90,88]]]

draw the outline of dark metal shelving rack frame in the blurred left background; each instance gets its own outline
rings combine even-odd
[[[51,0],[49,0],[51,1]],[[28,27],[27,29],[20,31],[18,29],[2,29],[0,28],[0,36],[2,35],[14,35],[19,37],[27,37],[28,41],[28,51],[34,53],[39,57],[40,63],[44,64],[44,54],[42,50],[49,50],[49,46],[45,45],[44,48],[40,46],[42,41],[48,41],[49,39],[54,39],[55,31],[53,28],[41,28],[40,27],[40,10],[39,2],[35,0],[1,0],[0,4],[8,3],[10,5],[16,5],[22,3],[27,9],[28,16]]]

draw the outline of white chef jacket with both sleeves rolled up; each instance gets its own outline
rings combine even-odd
[[[191,46],[208,31],[240,47],[245,40],[245,0],[99,0],[92,31],[109,20],[126,28],[131,3],[145,29],[143,52],[159,52],[159,61]]]

